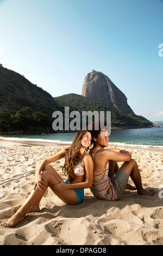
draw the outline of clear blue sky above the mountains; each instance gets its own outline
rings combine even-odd
[[[162,14],[162,0],[0,0],[0,63],[52,96],[101,71],[135,114],[163,120]]]

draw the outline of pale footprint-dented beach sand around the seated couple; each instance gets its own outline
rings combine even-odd
[[[37,164],[66,147],[0,142],[1,223],[29,196]],[[0,227],[0,245],[163,245],[162,151],[126,149],[137,161],[143,187],[155,190],[153,197],[126,190],[121,200],[106,202],[87,188],[81,204],[66,205],[48,188],[40,212],[28,214],[14,228]],[[64,159],[52,166],[65,179],[63,163]],[[133,185],[131,179],[129,183]]]

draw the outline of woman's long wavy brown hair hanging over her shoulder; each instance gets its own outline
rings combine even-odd
[[[68,176],[68,181],[72,182],[74,179],[74,168],[80,162],[80,141],[87,131],[79,131],[73,139],[72,144],[66,151],[65,164],[62,167],[65,175]]]

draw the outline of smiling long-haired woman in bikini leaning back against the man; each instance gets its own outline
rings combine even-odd
[[[15,225],[33,211],[40,211],[40,200],[48,187],[66,204],[79,204],[84,197],[84,188],[92,186],[93,163],[86,149],[90,146],[91,134],[89,131],[79,131],[68,149],[61,150],[40,164],[36,172],[34,190],[30,193],[26,202],[7,221],[3,227],[15,227]],[[61,178],[57,171],[49,164],[65,157],[63,169],[67,180]]]

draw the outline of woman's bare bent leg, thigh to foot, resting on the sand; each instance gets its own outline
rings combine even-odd
[[[26,217],[27,212],[29,212],[29,209],[31,210],[32,208],[34,208],[38,204],[38,202],[40,203],[40,200],[45,193],[47,187],[52,187],[53,185],[59,183],[59,181],[55,179],[55,175],[51,172],[45,171],[42,173],[42,175],[43,180],[45,181],[47,186],[44,186],[41,190],[36,187],[35,190],[30,193],[29,197],[27,198],[26,202],[21,206],[21,208],[18,209],[18,211],[7,222],[4,222],[2,224],[3,227],[15,227],[16,224],[23,221]],[[60,175],[58,175],[56,178],[59,178]],[[78,197],[74,190],[65,190],[62,192],[56,192],[55,194],[66,204],[78,203]]]

